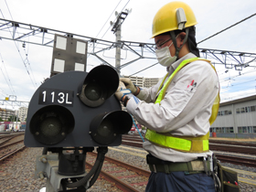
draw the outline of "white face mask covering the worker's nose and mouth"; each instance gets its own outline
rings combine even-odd
[[[176,36],[178,37],[178,35]],[[158,62],[164,67],[170,67],[176,61],[176,56],[172,57],[169,48],[173,45],[165,48],[160,48],[155,50],[156,58]]]

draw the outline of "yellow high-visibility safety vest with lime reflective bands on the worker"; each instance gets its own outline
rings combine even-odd
[[[186,59],[186,60],[182,61],[179,64],[179,66],[171,74],[171,76],[168,78],[168,80],[166,82],[165,82],[165,79],[167,78],[168,74],[165,75],[165,79],[162,81],[158,91],[161,90],[164,82],[165,82],[165,85],[162,88],[162,90],[160,91],[155,103],[161,104],[160,102],[165,97],[165,91],[167,90],[171,81],[176,76],[176,73],[180,69],[185,67],[187,64],[189,64],[193,61],[196,61],[196,60],[205,60],[205,61],[207,61],[210,64],[210,66],[212,67],[212,69],[214,69],[215,72],[217,73],[216,69],[211,65],[211,63],[208,59],[200,59],[200,58]],[[212,105],[211,116],[209,118],[209,123],[210,124],[214,123],[214,121],[216,120],[216,117],[218,115],[219,101],[220,100],[219,100],[219,93],[218,93],[218,95],[215,98],[215,101]],[[208,152],[208,137],[209,137],[209,132],[206,135],[197,136],[197,137],[193,137],[193,136],[175,136],[175,135],[171,135],[170,133],[157,133],[157,132],[155,132],[153,130],[150,130],[150,129],[147,129],[147,131],[145,133],[145,138],[148,141],[150,141],[150,142],[152,142],[156,145],[160,145],[160,146],[166,147],[166,148],[172,148],[172,149],[175,149],[177,151],[182,151],[182,152],[187,152],[187,153]]]

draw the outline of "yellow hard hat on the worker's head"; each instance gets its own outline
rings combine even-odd
[[[152,27],[152,37],[162,33],[195,26],[196,16],[189,5],[175,1],[168,3],[155,14]],[[182,26],[183,27],[180,27]]]

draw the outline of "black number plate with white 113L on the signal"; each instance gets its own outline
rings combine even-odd
[[[73,106],[74,91],[40,89],[39,104],[60,104]]]

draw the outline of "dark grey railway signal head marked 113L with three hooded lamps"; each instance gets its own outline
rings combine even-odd
[[[27,112],[25,144],[30,147],[119,145],[133,120],[113,93],[119,77],[101,65],[59,73],[34,93]]]

